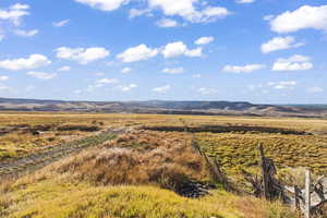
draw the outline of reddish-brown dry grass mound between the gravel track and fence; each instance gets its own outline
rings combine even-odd
[[[119,136],[105,147],[85,150],[61,161],[56,171],[96,184],[159,184],[171,190],[208,174],[191,138],[149,131]],[[179,155],[177,155],[179,154]]]

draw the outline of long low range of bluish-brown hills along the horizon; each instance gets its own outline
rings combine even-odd
[[[64,101],[0,98],[0,110],[327,117],[327,106],[322,105],[274,106],[246,101]]]

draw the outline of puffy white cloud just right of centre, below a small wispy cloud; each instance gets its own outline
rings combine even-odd
[[[201,57],[202,48],[190,50],[183,41],[175,41],[166,45],[166,47],[162,50],[162,55],[165,58],[174,58],[179,56]]]

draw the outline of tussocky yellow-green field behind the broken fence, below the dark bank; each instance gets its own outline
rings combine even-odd
[[[197,133],[196,138],[203,150],[217,158],[227,174],[238,182],[243,182],[242,170],[259,172],[258,144],[265,147],[280,178],[288,183],[291,180],[301,183],[296,178],[284,177],[289,168],[310,167],[317,174],[327,174],[327,137],[323,135]]]

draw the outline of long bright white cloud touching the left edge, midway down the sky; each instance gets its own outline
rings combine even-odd
[[[51,61],[43,55],[31,55],[28,58],[20,58],[20,59],[7,59],[3,61],[0,61],[0,68],[12,70],[12,71],[19,71],[19,70],[25,70],[25,69],[36,69],[40,66],[45,66],[50,64]]]

